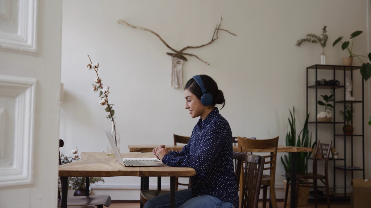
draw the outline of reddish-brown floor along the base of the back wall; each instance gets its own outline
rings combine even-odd
[[[278,208],[283,208],[283,201],[277,202]],[[123,204],[116,204],[113,203],[109,208],[139,208],[139,203],[123,203]],[[267,208],[269,205],[267,204]],[[289,208],[290,206],[287,206]],[[300,206],[299,208],[312,208],[314,206],[314,202],[308,202],[308,206]],[[259,208],[262,208],[262,202],[259,202]],[[327,204],[325,202],[319,202],[317,208],[327,208]],[[331,208],[351,208],[350,201],[336,201],[331,202]]]

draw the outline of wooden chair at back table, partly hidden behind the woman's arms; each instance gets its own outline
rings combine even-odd
[[[177,143],[180,144],[187,144],[190,137],[180,136],[174,134],[174,145]],[[188,184],[178,182],[178,177],[175,177],[175,191],[178,191],[178,185],[187,185],[188,188],[191,188],[191,178],[190,177],[181,177],[181,178],[188,178]],[[146,190],[140,192],[140,201],[144,205],[148,200],[153,197],[160,196],[162,194],[168,194],[170,191],[162,191],[162,190]]]

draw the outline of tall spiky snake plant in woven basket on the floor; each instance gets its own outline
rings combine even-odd
[[[290,111],[290,110],[289,110]],[[296,147],[314,147],[316,142],[312,143],[312,134],[309,137],[309,130],[308,130],[308,119],[309,114],[306,115],[305,123],[303,129],[298,134],[298,140],[296,140],[296,120],[295,120],[295,108],[293,107],[293,113],[290,111],[290,118],[289,124],[290,124],[290,130],[286,134],[286,146],[296,146]],[[308,172],[308,160],[309,157],[311,157],[312,152],[299,152],[298,158],[296,159],[296,174],[300,173],[307,173]],[[291,172],[291,155],[284,155],[284,158],[281,157],[281,162],[283,164],[283,167],[285,168],[286,173]],[[286,186],[286,180],[284,181],[285,185],[285,191],[286,188],[289,188]],[[290,192],[288,195],[288,198],[290,197]],[[299,195],[297,196],[299,199],[306,199],[306,200],[299,200],[298,205],[299,206],[306,206],[308,205],[308,197],[309,197],[309,187],[299,187]],[[290,204],[290,200],[287,200],[287,204]]]

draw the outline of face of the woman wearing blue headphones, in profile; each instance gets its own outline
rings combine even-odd
[[[201,116],[202,120],[207,116],[204,115],[207,111],[207,106],[201,103],[201,100],[196,97],[193,93],[191,93],[188,89],[184,90],[184,98],[185,98],[185,109],[189,110],[189,114],[192,118],[197,118]]]

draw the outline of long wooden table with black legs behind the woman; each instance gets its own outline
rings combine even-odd
[[[128,145],[130,152],[152,152],[153,148],[157,147],[158,145],[152,144],[144,144],[144,145]],[[184,145],[165,145],[169,151],[181,151]],[[233,146],[233,151],[238,151],[238,146]],[[243,152],[273,152],[270,149],[242,149]],[[291,154],[291,204],[296,204],[296,159],[298,157],[299,152],[312,152],[313,149],[310,147],[290,147],[290,146],[282,146],[279,145],[277,148],[277,152],[290,152]],[[152,155],[153,156],[153,155]]]

